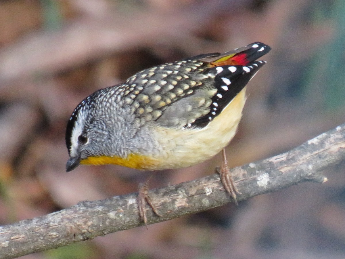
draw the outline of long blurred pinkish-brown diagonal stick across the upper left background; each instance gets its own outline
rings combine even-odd
[[[27,76],[54,74],[114,51],[145,47],[163,36],[180,35],[181,30],[191,33],[203,28],[218,13],[235,13],[247,2],[251,1],[203,1],[197,6],[168,14],[109,11],[102,13],[102,18],[86,17],[54,33],[33,33],[0,50],[0,79],[7,82]],[[6,87],[6,84],[1,87]]]

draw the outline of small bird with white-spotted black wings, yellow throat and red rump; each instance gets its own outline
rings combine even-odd
[[[236,201],[224,147],[234,137],[246,85],[271,48],[262,42],[144,69],[125,83],[97,90],[73,111],[66,129],[66,171],[79,164],[164,170],[201,163],[223,150],[220,175]],[[147,184],[139,212],[147,222]],[[141,196],[140,196],[141,195]],[[157,213],[158,214],[158,213]]]

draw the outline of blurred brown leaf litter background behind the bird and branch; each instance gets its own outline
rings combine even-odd
[[[65,173],[65,127],[96,89],[156,64],[263,41],[230,166],[287,151],[345,121],[345,1],[0,2],[0,225],[136,192],[151,172]],[[151,188],[213,173],[162,171]],[[23,258],[345,258],[345,163],[305,183],[180,219]]]

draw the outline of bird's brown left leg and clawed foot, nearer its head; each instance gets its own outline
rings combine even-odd
[[[147,213],[146,213],[146,203],[150,205],[151,209],[159,216],[161,215],[158,213],[156,206],[152,203],[152,200],[149,196],[149,182],[152,178],[153,174],[146,180],[145,183],[139,184],[139,194],[138,194],[138,210],[139,215],[147,229]]]

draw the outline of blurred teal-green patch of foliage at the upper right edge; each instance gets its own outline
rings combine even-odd
[[[314,103],[321,101],[321,106],[326,109],[345,105],[345,2],[335,0],[332,7],[319,4],[315,8],[316,22],[324,22],[325,16],[333,21],[335,37],[315,53],[306,75],[306,89],[312,100]],[[317,96],[323,99],[319,100]]]

